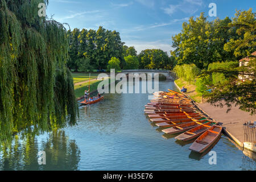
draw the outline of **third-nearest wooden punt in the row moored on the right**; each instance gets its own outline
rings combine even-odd
[[[162,131],[166,134],[177,134],[177,133],[182,133],[184,131],[190,130],[190,129],[200,126],[200,125],[202,125],[201,122],[193,121],[193,122],[189,122],[189,123],[184,123],[183,125],[170,127],[168,129],[164,129]]]

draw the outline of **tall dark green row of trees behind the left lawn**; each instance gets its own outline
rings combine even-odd
[[[75,71],[106,69],[111,57],[123,59],[123,42],[119,32],[99,27],[95,30],[81,31],[75,28],[68,31],[69,68]]]

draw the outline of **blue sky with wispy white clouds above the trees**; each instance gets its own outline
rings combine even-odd
[[[209,17],[210,3],[215,3],[217,16]],[[201,12],[208,20],[234,17],[236,10],[255,12],[255,0],[49,0],[47,15],[73,28],[97,30],[102,26],[120,33],[126,46],[137,52],[162,49],[170,55],[172,36],[183,22]]]

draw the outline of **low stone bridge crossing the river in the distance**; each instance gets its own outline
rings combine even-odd
[[[152,73],[154,78],[155,74],[163,75],[167,80],[174,80],[174,72],[168,70],[159,70],[159,69],[123,69],[122,73],[128,75],[129,73]]]

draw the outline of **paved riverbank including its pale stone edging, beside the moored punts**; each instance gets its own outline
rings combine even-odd
[[[180,85],[176,83],[176,80],[174,82],[177,88],[180,90]],[[189,93],[185,93],[185,96],[190,97]],[[204,102],[196,103],[195,101],[193,101],[193,104],[197,107],[197,109],[208,115],[208,117],[212,118],[214,121],[222,123],[225,134],[234,140],[234,142],[236,142],[242,148],[242,150],[243,148],[246,148],[250,151],[256,152],[255,147],[249,147],[248,142],[245,142],[245,134],[243,131],[243,123],[248,121],[254,122],[256,120],[255,115],[251,116],[249,113],[240,110],[234,105],[232,106],[232,110],[230,110],[229,113],[226,113],[228,108],[225,106],[220,108]],[[255,143],[251,143],[251,145],[255,146]]]

